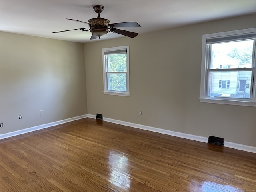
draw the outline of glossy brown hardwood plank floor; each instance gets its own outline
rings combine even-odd
[[[85,118],[0,140],[0,192],[256,191],[256,154]]]

